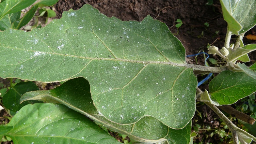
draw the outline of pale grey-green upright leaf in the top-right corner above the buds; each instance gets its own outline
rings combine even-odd
[[[256,24],[255,0],[220,0],[224,20],[229,30],[239,35],[247,32]]]

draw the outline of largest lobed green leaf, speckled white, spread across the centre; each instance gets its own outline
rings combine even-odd
[[[195,113],[197,79],[186,67],[184,47],[150,16],[122,22],[84,5],[46,27],[5,30],[0,37],[0,77],[42,82],[84,77],[95,107],[112,122],[152,116],[180,129]]]

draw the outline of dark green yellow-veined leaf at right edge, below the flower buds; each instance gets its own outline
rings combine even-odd
[[[256,92],[256,79],[244,72],[223,71],[209,83],[209,91],[220,105],[231,105]]]

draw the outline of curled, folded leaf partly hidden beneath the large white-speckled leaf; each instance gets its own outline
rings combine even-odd
[[[28,92],[21,98],[22,102],[25,100],[64,104],[110,129],[126,134],[140,142],[184,144],[190,141],[191,121],[183,129],[178,130],[169,128],[151,116],[143,117],[138,122],[128,125],[110,122],[98,113],[94,107],[89,83],[84,78],[70,79],[52,90]],[[110,105],[107,107],[110,107]],[[162,117],[166,117],[166,115],[168,115],[168,111],[163,113]],[[183,113],[179,114],[179,117],[187,119],[182,115]],[[118,118],[123,119],[123,116],[121,115]]]

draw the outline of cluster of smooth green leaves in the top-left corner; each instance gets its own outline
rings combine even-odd
[[[52,6],[58,0],[40,0],[34,4],[22,18],[21,10],[32,5],[36,0],[0,0],[0,30],[20,29],[26,25],[40,7]],[[50,10],[47,10],[48,12]],[[50,13],[53,13],[50,11]],[[48,16],[47,16],[48,17]]]

